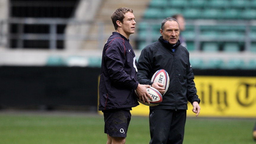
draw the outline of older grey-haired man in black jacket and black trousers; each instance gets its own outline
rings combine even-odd
[[[179,40],[179,24],[174,18],[162,21],[161,37],[146,46],[138,59],[138,80],[165,92],[162,83],[152,83],[151,77],[165,69],[170,86],[157,106],[149,107],[150,144],[182,144],[187,116],[187,103],[192,104],[196,116],[200,113],[200,99],[189,62],[189,52]]]

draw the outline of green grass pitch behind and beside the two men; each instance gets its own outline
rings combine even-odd
[[[255,119],[187,118],[184,144],[256,144]],[[148,144],[148,117],[132,116],[126,144]],[[102,115],[0,113],[1,144],[104,144]]]

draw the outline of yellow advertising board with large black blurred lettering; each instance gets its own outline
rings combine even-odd
[[[256,118],[256,77],[195,76],[194,81],[201,100],[200,117]],[[195,116],[192,108],[188,102],[188,116]],[[131,113],[148,116],[149,107],[140,104]]]

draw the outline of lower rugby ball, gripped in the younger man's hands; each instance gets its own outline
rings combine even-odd
[[[139,96],[137,95],[137,92],[135,90],[135,95],[136,95],[138,102],[142,103],[143,105],[156,106],[156,105],[159,105],[163,101],[162,94],[160,94],[160,92],[157,89],[155,89],[153,87],[149,87],[149,88],[147,88],[147,91],[148,91],[148,94],[150,94],[150,96],[153,98],[153,100],[148,98],[148,101],[150,102],[150,104],[147,102],[145,102],[145,104],[144,104],[143,101],[140,101]]]

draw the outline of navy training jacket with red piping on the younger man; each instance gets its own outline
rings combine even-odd
[[[129,39],[113,32],[102,53],[99,80],[99,110],[139,105],[135,97],[137,61]]]

